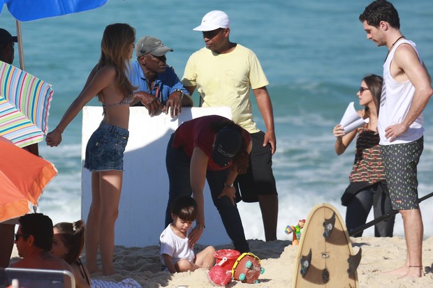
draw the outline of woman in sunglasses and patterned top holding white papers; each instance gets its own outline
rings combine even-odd
[[[335,126],[333,130],[337,137],[335,141],[337,155],[344,153],[357,136],[355,161],[349,176],[350,183],[342,196],[342,205],[347,207],[346,226],[349,232],[365,224],[372,207],[375,219],[392,211],[377,132],[382,83],[381,76],[367,75],[362,79],[360,90],[356,93],[359,104],[364,106],[358,114],[363,119],[369,119],[368,123],[347,134],[341,124]],[[392,237],[394,221],[395,216],[392,216],[376,223],[374,236]],[[362,236],[362,231],[353,236]]]

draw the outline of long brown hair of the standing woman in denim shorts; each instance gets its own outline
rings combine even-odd
[[[129,66],[129,51],[135,42],[135,29],[129,24],[115,23],[105,27],[101,40],[101,58],[98,70],[110,65],[116,70],[115,87],[124,98],[133,95],[134,86],[126,75],[126,66]],[[101,93],[98,99],[102,102]]]

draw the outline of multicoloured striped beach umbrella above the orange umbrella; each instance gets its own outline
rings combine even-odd
[[[0,135],[19,147],[41,142],[52,95],[50,84],[0,61]]]

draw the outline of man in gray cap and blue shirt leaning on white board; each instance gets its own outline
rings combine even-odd
[[[149,115],[159,111],[168,114],[170,110],[173,118],[182,112],[182,106],[193,106],[193,100],[175,70],[167,66],[166,54],[170,51],[173,49],[152,36],[144,36],[135,45],[137,61],[131,63],[129,81],[138,87],[135,96],[139,96],[140,102],[135,106],[144,105]]]

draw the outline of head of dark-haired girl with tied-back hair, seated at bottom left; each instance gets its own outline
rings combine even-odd
[[[53,231],[52,254],[73,264],[85,245],[85,222],[60,222],[54,225]]]

